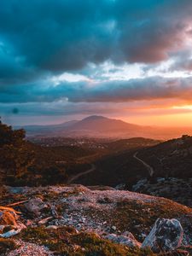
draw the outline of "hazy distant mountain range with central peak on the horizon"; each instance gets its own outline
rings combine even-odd
[[[20,128],[20,127],[15,127]],[[126,123],[119,119],[109,119],[92,115],[82,120],[72,120],[60,125],[26,125],[28,137],[150,137],[154,139],[170,139],[191,134],[192,128],[153,127]]]

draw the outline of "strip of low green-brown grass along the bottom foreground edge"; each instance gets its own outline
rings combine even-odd
[[[125,247],[97,236],[95,233],[80,232],[73,227],[57,230],[44,227],[28,228],[20,234],[23,241],[35,242],[49,247],[57,255],[85,256],[149,256],[154,255],[149,249]]]

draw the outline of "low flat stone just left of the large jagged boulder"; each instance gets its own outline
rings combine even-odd
[[[131,232],[126,232],[126,236],[117,236],[115,234],[108,234],[104,238],[128,246],[128,247],[141,247],[141,243],[136,240],[136,238],[131,234]]]

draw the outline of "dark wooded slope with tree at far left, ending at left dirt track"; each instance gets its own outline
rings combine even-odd
[[[25,131],[0,122],[1,183],[46,185],[65,183],[67,172],[86,170],[76,162],[92,152],[78,147],[43,147],[26,140]]]

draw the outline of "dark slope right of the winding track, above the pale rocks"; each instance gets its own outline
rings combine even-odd
[[[156,177],[192,177],[192,137],[183,136],[138,152]]]

